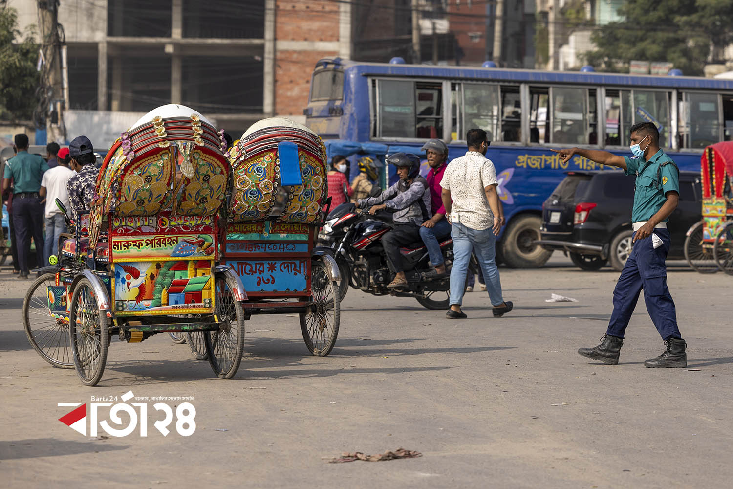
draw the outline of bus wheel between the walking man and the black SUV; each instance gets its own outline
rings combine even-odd
[[[537,268],[545,265],[552,254],[542,246],[533,243],[539,240],[539,216],[521,216],[513,219],[504,232],[502,251],[504,262],[509,268]]]

